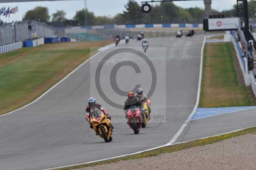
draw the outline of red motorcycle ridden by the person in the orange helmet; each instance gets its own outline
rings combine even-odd
[[[140,132],[140,127],[142,126],[142,112],[140,108],[136,106],[131,106],[126,112],[126,116],[128,119],[128,124],[132,130],[134,130],[134,134],[138,134]]]

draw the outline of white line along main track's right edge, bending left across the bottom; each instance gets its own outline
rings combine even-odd
[[[203,45],[202,45],[202,49],[201,49],[201,61],[200,61],[200,72],[199,72],[199,80],[198,80],[198,93],[197,93],[197,99],[196,99],[196,104],[195,104],[195,107],[192,111],[192,113],[189,115],[189,117],[186,119],[186,121],[184,122],[184,124],[180,127],[180,130],[178,130],[178,132],[180,132],[180,134],[182,133],[182,131],[184,130],[184,128],[186,127],[186,125],[188,124],[190,118],[192,117],[192,115],[195,113],[197,107],[198,107],[198,104],[199,104],[199,98],[200,98],[200,91],[201,91],[201,76],[202,76],[202,69],[203,69],[203,55],[204,55],[204,44],[205,44],[205,40],[206,40],[206,37],[204,37],[204,41],[203,41]],[[177,134],[177,133],[176,133]],[[180,135],[178,134],[178,136]],[[121,158],[121,157],[124,157],[124,156],[131,156],[131,155],[136,155],[138,153],[143,153],[143,152],[147,152],[147,151],[150,151],[150,150],[155,150],[155,149],[158,149],[158,148],[161,148],[161,147],[167,147],[167,146],[171,146],[171,145],[174,145],[173,143],[176,141],[175,138],[172,138],[171,141],[169,141],[167,144],[165,145],[162,145],[162,146],[159,146],[159,147],[153,147],[153,148],[150,148],[148,150],[142,150],[142,151],[139,151],[139,152],[135,152],[135,153],[130,153],[130,154],[126,154],[126,155],[121,155],[121,156],[115,156],[115,157],[112,157],[112,158],[105,158],[105,159],[100,159],[100,160],[96,160],[96,161],[90,161],[90,162],[84,162],[84,163],[80,163],[80,164],[73,164],[73,165],[67,165],[67,166],[62,166],[62,167],[54,167],[54,168],[49,168],[49,169],[43,169],[43,170],[54,170],[54,169],[58,169],[58,168],[64,168],[64,167],[73,167],[73,166],[77,166],[77,165],[81,165],[81,164],[90,164],[90,163],[94,163],[94,162],[99,162],[99,161],[106,161],[106,160],[109,160],[109,159],[114,159],[114,158]],[[181,142],[182,143],[182,142]],[[176,143],[176,144],[179,144],[179,143]]]

